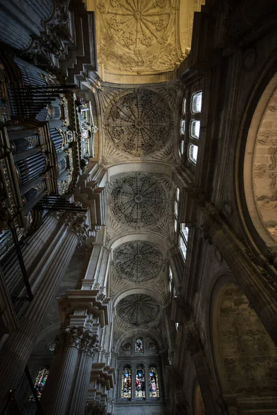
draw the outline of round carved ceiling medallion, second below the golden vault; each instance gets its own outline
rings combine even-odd
[[[143,228],[158,223],[163,217],[166,192],[153,175],[123,174],[114,181],[109,204],[117,221],[132,228]]]

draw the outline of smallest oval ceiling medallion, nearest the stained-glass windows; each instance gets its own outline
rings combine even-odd
[[[133,294],[121,299],[116,311],[123,321],[139,326],[155,320],[159,315],[160,306],[150,295]]]

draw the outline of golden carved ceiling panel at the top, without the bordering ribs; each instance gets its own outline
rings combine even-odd
[[[182,58],[179,0],[98,0],[98,62],[109,73],[172,71]]]

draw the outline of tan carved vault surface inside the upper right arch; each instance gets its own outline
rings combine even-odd
[[[276,100],[277,73],[267,84],[253,114],[244,154],[244,196],[251,221],[267,246],[277,244]]]

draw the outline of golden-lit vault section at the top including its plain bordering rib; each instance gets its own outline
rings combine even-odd
[[[190,50],[193,14],[201,3],[96,0],[96,39],[102,78],[117,83],[174,79],[176,64]],[[148,75],[146,80],[145,75]]]

